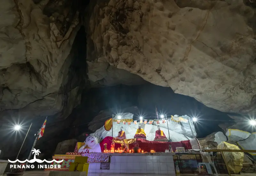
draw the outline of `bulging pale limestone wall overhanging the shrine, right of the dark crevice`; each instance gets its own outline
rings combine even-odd
[[[92,4],[85,21],[89,70],[108,63],[220,111],[245,113],[255,108],[254,10],[248,3],[97,0]]]

